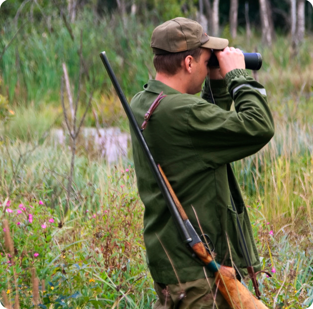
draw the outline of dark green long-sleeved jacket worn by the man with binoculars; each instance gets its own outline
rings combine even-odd
[[[255,270],[260,268],[259,256],[247,209],[240,203],[236,180],[228,180],[226,164],[267,144],[274,134],[274,123],[265,89],[247,71],[233,70],[225,80],[210,81],[210,87],[215,104],[209,99],[208,81],[200,98],[149,80],[130,106],[141,125],[156,97],[162,91],[167,95],[143,131],[149,149],[197,232],[209,235],[216,261],[231,266],[230,247],[234,264],[245,275],[228,181],[234,188],[233,200]],[[232,101],[235,110],[231,111]],[[183,243],[132,130],[131,139],[138,192],[145,206],[143,236],[152,278],[163,284],[178,283],[178,278],[180,282],[204,278],[203,264]],[[212,276],[209,271],[207,275]]]

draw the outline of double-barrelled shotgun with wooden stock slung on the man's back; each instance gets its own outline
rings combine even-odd
[[[232,267],[220,265],[214,260],[209,250],[202,242],[195,228],[189,221],[184,208],[180,204],[162,168],[154,161],[142,134],[142,130],[140,129],[134,114],[132,113],[129,103],[127,102],[127,99],[116,79],[105,52],[102,52],[100,57],[114,86],[117,96],[123,105],[131,128],[133,129],[135,136],[138,139],[146,159],[148,160],[149,167],[155,177],[155,180],[167,203],[167,206],[169,207],[171,215],[173,216],[182,239],[191,247],[196,256],[204,262],[205,266],[211,272],[213,272],[216,279],[215,284],[218,290],[232,309],[268,309],[236,279],[236,272]]]

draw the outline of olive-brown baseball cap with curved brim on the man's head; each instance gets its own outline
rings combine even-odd
[[[228,40],[209,36],[195,20],[176,17],[157,26],[151,37],[153,54],[177,53],[198,47],[224,49]]]

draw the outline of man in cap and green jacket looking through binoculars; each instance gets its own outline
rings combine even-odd
[[[141,124],[159,94],[166,95],[143,131],[150,151],[197,232],[209,236],[215,260],[246,275],[231,194],[252,264],[259,270],[247,210],[227,165],[254,154],[272,138],[274,124],[265,89],[248,75],[240,50],[228,47],[226,39],[208,36],[196,21],[177,17],[159,25],[151,47],[156,77],[130,103]],[[219,68],[208,67],[212,52]],[[201,97],[195,96],[201,90]],[[232,102],[235,110],[230,111]],[[216,290],[213,274],[180,238],[131,135],[138,191],[145,206],[147,264],[158,294],[154,308],[230,308]]]

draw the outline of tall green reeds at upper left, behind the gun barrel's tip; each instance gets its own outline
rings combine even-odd
[[[153,25],[143,25],[135,16],[129,16],[125,25],[119,18],[97,17],[86,10],[71,24],[73,41],[62,18],[55,14],[50,16],[50,27],[45,20],[36,27],[26,24],[5,51],[0,64],[2,93],[10,102],[33,102],[36,106],[42,102],[59,102],[62,63],[67,64],[73,80],[79,76],[81,31],[86,92],[111,87],[99,57],[104,50],[128,96],[143,85],[148,77],[146,67],[152,67],[149,41]],[[13,20],[5,20],[5,23],[1,36],[3,42],[8,43],[17,28]],[[127,82],[129,80],[133,83]]]

